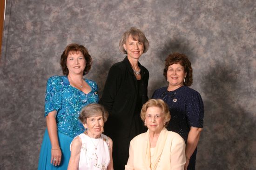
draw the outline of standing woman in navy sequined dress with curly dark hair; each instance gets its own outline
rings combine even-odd
[[[195,170],[196,148],[203,127],[203,102],[201,95],[189,88],[193,78],[188,57],[170,54],[165,60],[163,75],[168,87],[155,90],[152,98],[168,104],[171,113],[168,130],[179,133],[185,140],[185,170]]]

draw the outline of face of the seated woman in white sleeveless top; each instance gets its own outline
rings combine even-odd
[[[98,114],[94,117],[86,119],[86,123],[83,124],[87,128],[88,136],[91,138],[100,138],[103,132],[104,120],[102,115]]]

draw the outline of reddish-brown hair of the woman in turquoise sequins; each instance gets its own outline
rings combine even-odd
[[[92,58],[89,55],[87,48],[85,48],[83,45],[79,45],[79,44],[68,44],[61,55],[61,68],[62,68],[63,75],[66,75],[66,76],[68,75],[67,56],[70,51],[76,51],[76,52],[81,51],[81,53],[86,61],[86,66],[83,71],[83,76],[88,74],[89,70],[92,67]]]

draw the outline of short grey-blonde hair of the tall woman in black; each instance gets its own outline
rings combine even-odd
[[[143,47],[144,47],[143,53],[148,51],[149,43],[148,43],[148,39],[145,37],[144,33],[135,27],[131,27],[129,30],[127,30],[127,31],[125,31],[125,33],[123,33],[122,38],[119,42],[119,50],[122,53],[127,54],[127,51],[124,49],[123,44],[126,43],[128,37],[130,35],[132,36],[133,40],[136,40],[143,44]]]

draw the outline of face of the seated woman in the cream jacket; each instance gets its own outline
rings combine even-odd
[[[148,130],[160,133],[164,127],[164,114],[160,107],[148,107],[145,115],[145,123]]]

